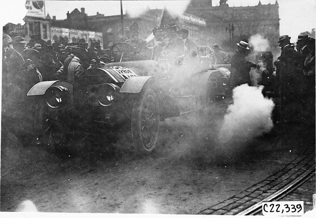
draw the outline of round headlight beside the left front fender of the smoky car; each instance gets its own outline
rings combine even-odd
[[[63,86],[52,86],[45,92],[45,100],[50,108],[59,108],[70,100],[70,91]]]

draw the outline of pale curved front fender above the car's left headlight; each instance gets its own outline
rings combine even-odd
[[[73,103],[72,83],[66,80],[43,81],[36,83],[28,92],[27,96],[42,96],[52,86],[63,86],[70,92],[70,103]]]

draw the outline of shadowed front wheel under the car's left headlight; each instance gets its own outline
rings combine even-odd
[[[66,133],[59,125],[59,115],[56,110],[46,107],[45,103],[38,103],[35,108],[34,125],[42,145],[49,151],[56,152],[67,145]]]

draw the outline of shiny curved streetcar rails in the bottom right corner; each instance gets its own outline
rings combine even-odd
[[[279,191],[275,192],[274,194],[268,196],[267,198],[259,201],[255,205],[247,208],[244,211],[239,212],[236,214],[237,216],[245,216],[245,215],[255,215],[261,212],[262,210],[262,203],[263,202],[269,202],[269,201],[277,201],[283,198],[284,196],[288,195],[295,189],[297,189],[301,184],[306,182],[308,179],[310,179],[312,176],[315,175],[315,164],[310,167],[306,172],[304,172],[302,175],[300,175],[297,179],[286,185],[285,187],[281,188]]]

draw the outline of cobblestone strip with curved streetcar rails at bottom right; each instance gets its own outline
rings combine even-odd
[[[303,192],[305,196],[300,196]],[[313,193],[315,193],[315,147],[311,146],[281,171],[198,214],[262,215],[263,202],[280,200],[304,200],[304,210],[308,211],[313,209]]]

